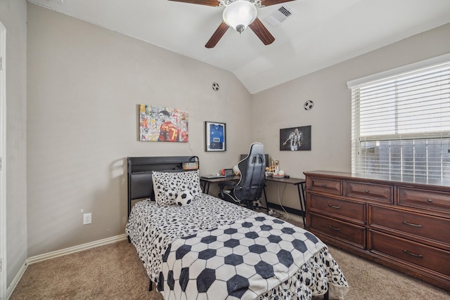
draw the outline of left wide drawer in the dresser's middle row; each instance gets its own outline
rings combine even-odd
[[[340,200],[316,194],[311,194],[309,197],[309,210],[312,212],[347,219],[347,221],[363,225],[366,223],[366,204],[363,202]]]

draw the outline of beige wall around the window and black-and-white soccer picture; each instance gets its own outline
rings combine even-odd
[[[449,37],[447,24],[253,95],[252,138],[262,141],[290,176],[304,178],[302,173],[312,170],[351,171],[352,115],[347,81],[450,53]],[[314,101],[312,110],[304,110],[307,100]],[[308,125],[311,151],[279,150],[279,129]],[[269,183],[267,190],[270,202],[278,203],[276,184]],[[280,198],[282,192],[283,186]],[[282,203],[300,209],[295,187],[286,187]]]

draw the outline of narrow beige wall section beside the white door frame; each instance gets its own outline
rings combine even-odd
[[[6,284],[27,259],[27,2],[0,0],[6,27]],[[5,165],[5,164],[4,164]],[[5,188],[5,187],[2,187]]]

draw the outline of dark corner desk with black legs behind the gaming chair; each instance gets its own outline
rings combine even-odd
[[[238,181],[239,179],[240,179],[239,175],[226,176],[226,177],[221,177],[221,178],[202,178],[202,177],[200,177],[200,181],[203,182],[203,193],[205,193],[205,194],[210,193],[211,183],[219,183],[221,181]],[[302,178],[292,178],[292,177],[291,178],[275,178],[272,176],[268,176],[265,179],[266,179],[266,181],[273,181],[273,182],[278,182],[278,183],[287,183],[287,184],[297,185],[298,197],[300,200],[300,209],[302,209],[303,224],[306,225],[306,222],[304,221],[304,215],[305,215],[304,184],[306,181],[304,181],[304,179],[302,179]],[[267,209],[269,210],[269,202],[267,201],[266,188],[264,188],[264,198],[266,200]]]

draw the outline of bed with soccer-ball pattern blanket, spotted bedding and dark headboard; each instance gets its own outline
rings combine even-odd
[[[165,299],[343,299],[347,293],[342,270],[315,235],[204,194],[198,169],[189,169],[199,166],[198,157],[127,160],[126,233],[150,289],[154,282]]]

